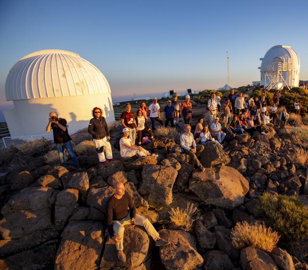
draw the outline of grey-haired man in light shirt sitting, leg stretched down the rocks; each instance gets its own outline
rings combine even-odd
[[[195,162],[195,165],[201,171],[205,171],[205,168],[200,163],[199,159],[197,158],[197,154],[200,154],[204,150],[203,145],[196,145],[196,141],[194,139],[193,133],[190,132],[191,126],[190,125],[184,125],[184,133],[180,136],[180,144],[183,152],[187,154],[192,161]]]

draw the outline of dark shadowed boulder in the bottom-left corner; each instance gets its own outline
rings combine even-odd
[[[4,259],[0,259],[0,269],[51,269],[54,264],[56,243],[42,244]]]

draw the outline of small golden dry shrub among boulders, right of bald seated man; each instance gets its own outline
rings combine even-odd
[[[198,209],[194,206],[193,203],[187,203],[185,209],[172,207],[169,214],[171,220],[171,228],[189,231],[193,227],[194,221],[196,220],[194,216],[198,215]]]

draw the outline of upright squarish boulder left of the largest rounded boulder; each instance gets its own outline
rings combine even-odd
[[[177,176],[173,167],[145,165],[139,193],[147,197],[149,205],[162,207],[172,202],[172,188]]]

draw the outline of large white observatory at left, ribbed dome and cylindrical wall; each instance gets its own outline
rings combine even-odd
[[[108,123],[114,121],[104,75],[67,51],[38,51],[20,59],[7,77],[6,98],[14,104],[14,109],[4,111],[12,137],[46,134],[51,111],[67,120],[70,132],[88,126],[95,106],[102,108]]]

